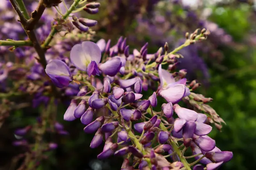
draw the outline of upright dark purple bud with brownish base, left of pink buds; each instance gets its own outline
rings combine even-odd
[[[185,147],[189,147],[192,142],[193,134],[195,133],[196,124],[194,121],[186,122],[183,127],[183,142]]]

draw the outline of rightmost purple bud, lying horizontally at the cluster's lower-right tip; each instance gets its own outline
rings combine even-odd
[[[205,156],[213,162],[227,162],[233,158],[233,153],[230,151],[207,152]]]

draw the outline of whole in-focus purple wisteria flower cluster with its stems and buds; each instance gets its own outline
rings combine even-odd
[[[12,46],[10,50],[19,46],[33,48],[24,50],[27,54],[24,54],[23,64],[8,62],[1,65],[0,81],[4,82],[9,75],[21,74],[20,77],[10,77],[19,82],[18,88],[13,87],[12,91],[3,88],[3,94],[33,94],[35,107],[42,103],[46,106],[36,125],[15,131],[20,140],[14,145],[26,147],[29,159],[35,160],[33,166],[36,167],[38,159],[42,159],[40,154],[58,147],[53,142],[41,145],[43,133],[68,135],[63,125],[55,118],[51,120],[50,114],[63,98],[68,97],[70,105],[63,119],[80,119],[85,126],[84,132],[95,134],[90,147],[105,144],[97,158],[122,156],[122,170],[215,170],[230,161],[233,153],[221,151],[215,140],[207,136],[212,130],[211,123],[218,129],[224,123],[207,105],[212,99],[195,94],[201,84],[196,80],[188,82],[186,70],[176,69],[182,57],[177,52],[205,40],[209,30],[186,33],[185,42],[178,48],[170,51],[166,42],[154,54],[148,54],[148,43],[140,50],[130,49],[124,37],[116,43],[103,39],[95,43],[80,35],[93,36],[90,27],[97,21],[74,14],[79,11],[98,13],[100,3],[93,1],[74,0],[68,8],[61,0],[40,0],[29,17],[22,0],[10,0],[29,39],[0,40],[0,45]],[[64,5],[64,14],[59,4]],[[49,35],[40,42],[35,24],[46,8],[56,8],[60,17],[55,18]],[[53,40],[57,33],[64,33],[64,36],[77,34],[78,37]],[[22,78],[27,82],[20,81]],[[151,96],[144,97],[149,91],[152,91]],[[164,103],[159,102],[163,100]],[[182,101],[191,109],[181,107]],[[34,145],[23,137],[29,132],[37,135]],[[188,150],[192,150],[192,155]],[[28,166],[27,162],[23,166]]]

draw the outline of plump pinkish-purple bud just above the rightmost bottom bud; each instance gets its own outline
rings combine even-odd
[[[201,150],[210,151],[215,147],[215,140],[209,136],[197,136],[194,134],[193,141],[200,147]]]

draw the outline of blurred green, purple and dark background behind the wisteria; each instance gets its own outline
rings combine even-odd
[[[179,51],[184,57],[179,68],[188,70],[189,80],[198,79],[202,83],[198,91],[213,98],[210,105],[227,123],[221,132],[214,127],[209,135],[221,150],[234,154],[221,170],[253,170],[256,167],[256,4],[253,0],[99,2],[99,14],[90,16],[90,19],[98,20],[98,25],[93,28],[95,40],[104,38],[116,42],[119,36],[124,36],[130,49],[139,49],[145,42],[149,43],[149,53],[157,51],[165,42],[169,43],[169,48],[175,48],[183,42],[186,32],[191,33],[196,28],[209,29],[211,35],[206,41]],[[29,1],[25,4],[30,6]],[[4,17],[6,13],[0,15]],[[3,25],[1,23],[1,34],[5,31]],[[26,96],[14,96],[13,99],[23,100]],[[49,159],[38,169],[118,170],[122,158],[97,160],[102,148],[90,149],[93,135],[84,134],[83,126],[77,121],[62,120],[66,108],[65,105],[58,107],[56,113],[70,135],[53,136],[59,146],[49,153]],[[9,169],[16,161],[15,156],[23,152],[22,148],[12,146],[15,128],[35,121],[41,110],[40,107],[26,107],[12,111],[4,118],[1,116],[1,170]]]

